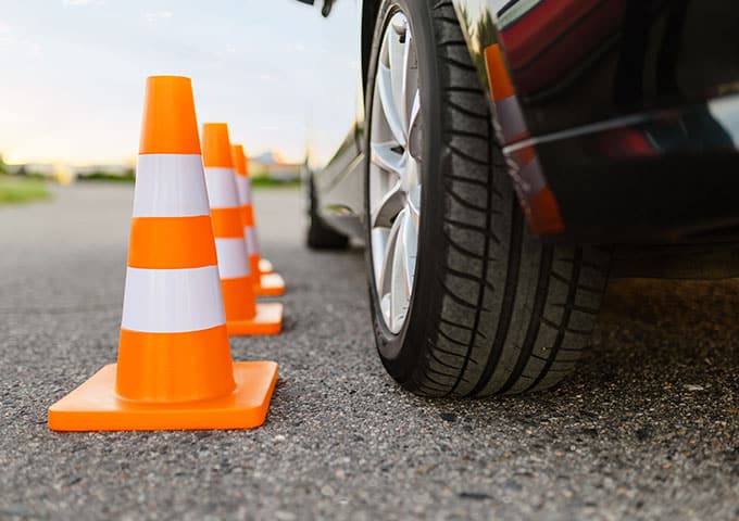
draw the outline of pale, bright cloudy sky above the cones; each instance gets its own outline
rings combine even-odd
[[[247,153],[326,161],[359,96],[359,7],[296,0],[0,0],[7,163],[130,164],[146,77],[192,78]]]

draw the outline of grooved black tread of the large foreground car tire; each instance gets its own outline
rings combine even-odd
[[[501,168],[505,158],[454,7],[440,0],[430,15],[447,122],[446,258],[435,268],[438,313],[427,318],[425,348],[401,383],[428,396],[547,389],[575,369],[588,345],[610,249],[542,246],[530,234]]]

